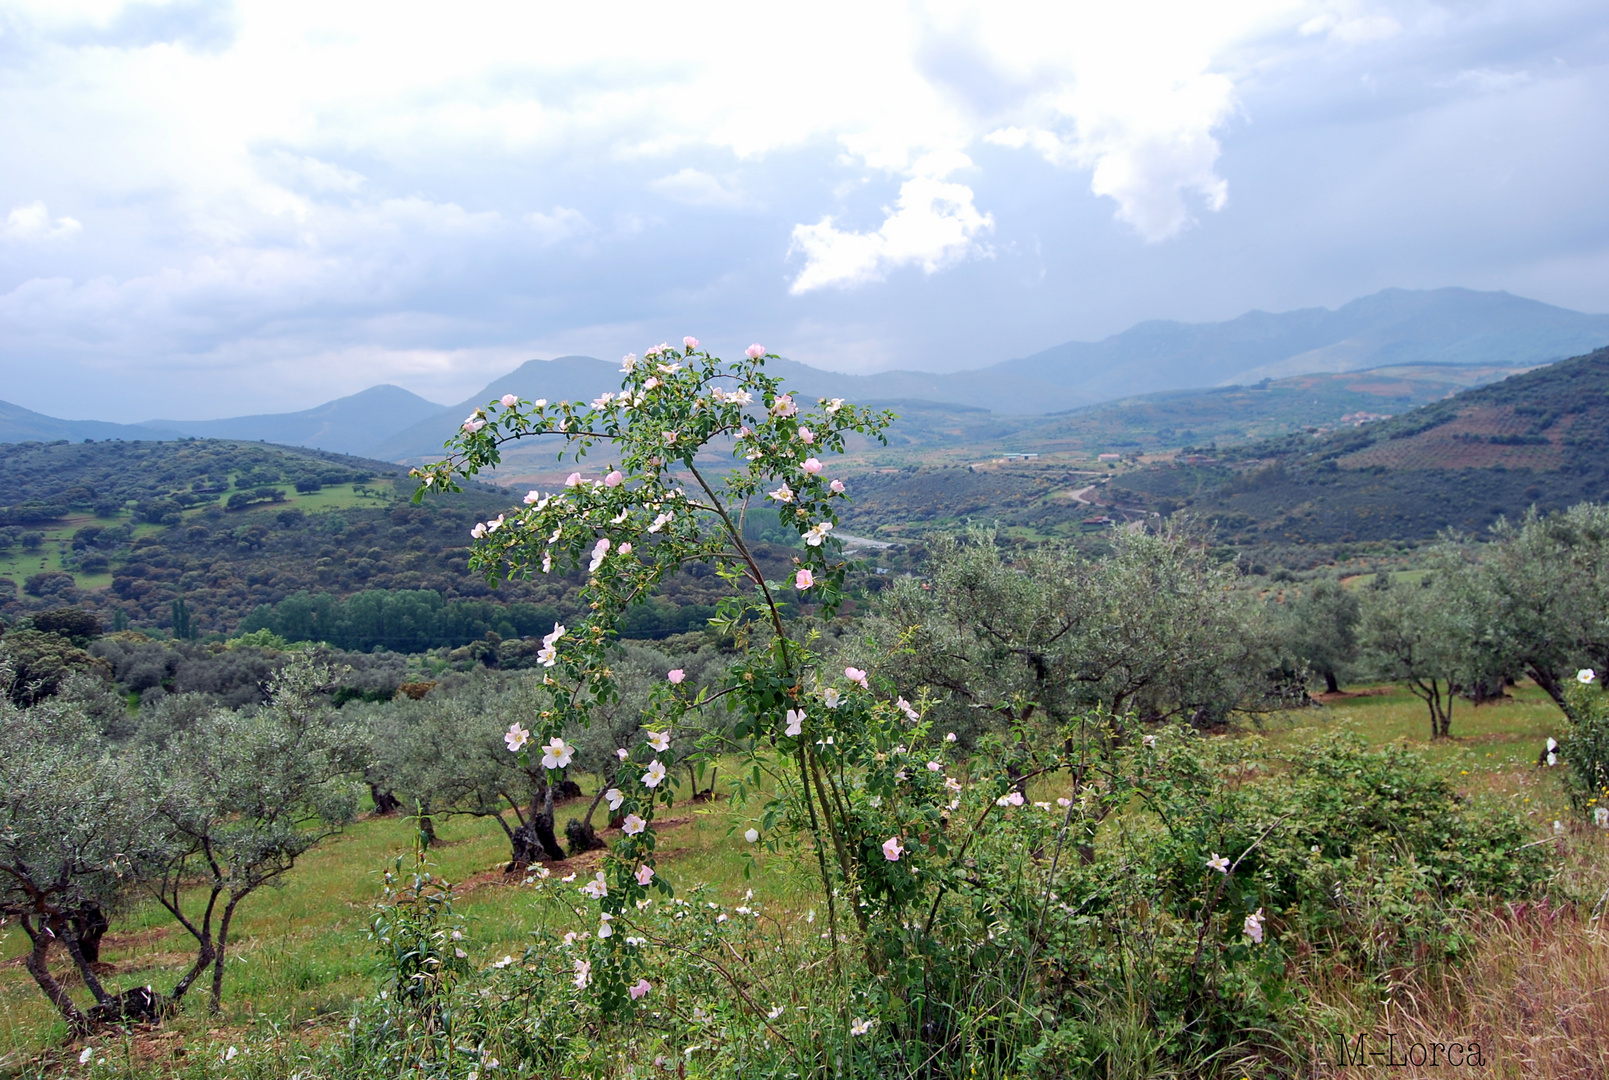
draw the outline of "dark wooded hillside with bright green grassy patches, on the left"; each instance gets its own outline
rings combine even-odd
[[[191,637],[267,629],[402,652],[541,636],[578,613],[576,575],[489,584],[470,530],[507,510],[471,484],[412,505],[386,462],[225,439],[0,444],[0,621],[74,605],[108,628]],[[758,539],[758,538],[756,538]],[[758,544],[780,576],[784,549]],[[703,567],[632,612],[640,637],[702,628],[724,584]]]

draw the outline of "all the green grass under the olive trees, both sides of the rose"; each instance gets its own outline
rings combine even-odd
[[[1553,821],[1564,818],[1559,777],[1535,765],[1546,737],[1559,732],[1561,716],[1535,687],[1519,687],[1512,699],[1480,708],[1459,702],[1453,737],[1434,745],[1418,699],[1400,687],[1352,690],[1321,708],[1281,713],[1228,737],[1265,739],[1274,747],[1294,748],[1324,731],[1350,728],[1376,745],[1429,747],[1471,795],[1511,802],[1535,821],[1538,837],[1549,835]],[[586,779],[582,787],[592,790]],[[589,803],[591,798],[573,800],[562,808],[560,834],[563,821],[584,813]],[[743,879],[747,845],[740,832],[747,824],[742,818],[743,811],[726,802],[677,805],[660,848],[665,874],[682,888],[710,882],[729,903],[753,888],[774,913],[803,913],[816,905],[809,868],[795,861],[761,858],[755,877]],[[441,822],[438,831],[441,843],[431,850],[431,859],[459,885],[459,909],[471,925],[473,943],[467,942],[471,958],[489,964],[504,954],[520,954],[541,914],[531,890],[502,874],[508,853],[502,831],[492,821],[471,818]],[[146,1064],[151,1056],[172,1057],[177,1072],[180,1059],[174,1054],[191,1046],[185,1075],[203,1075],[191,1069],[203,1046],[274,1045],[290,1032],[317,1041],[344,1030],[351,1006],[375,988],[364,930],[380,872],[410,850],[412,835],[405,819],[360,819],[344,835],[307,855],[283,887],[248,900],[233,930],[224,1014],[208,1017],[204,991],[198,988],[185,1016],[169,1030],[142,1035],[132,1043],[138,1054]],[[1606,839],[1595,831],[1577,831],[1577,835],[1585,845],[1583,858],[1601,868],[1609,858]],[[553,871],[586,876],[595,859],[597,855],[581,856],[555,864]],[[188,946],[190,940],[166,913],[154,905],[137,906],[114,921],[114,932],[103,946],[103,959],[114,966],[108,987],[153,983],[167,988],[182,971]],[[29,1062],[37,1067],[42,1061],[60,1061],[64,1074],[77,1074],[72,1062],[80,1045],[64,1041],[64,1025],[23,969],[24,951],[26,937],[6,927],[0,940],[0,1075]],[[68,964],[56,963],[55,969],[64,972]],[[82,988],[79,996],[87,998]]]

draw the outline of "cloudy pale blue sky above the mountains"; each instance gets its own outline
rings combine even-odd
[[[1609,5],[0,0],[0,399],[698,336],[957,370],[1387,286],[1609,311]]]

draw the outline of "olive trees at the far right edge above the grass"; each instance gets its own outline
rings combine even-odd
[[[1530,512],[1479,544],[1448,534],[1424,563],[1416,581],[1300,591],[1279,612],[1282,639],[1331,690],[1342,673],[1403,682],[1432,737],[1451,732],[1459,697],[1487,700],[1519,678],[1575,719],[1575,673],[1609,666],[1609,505]]]

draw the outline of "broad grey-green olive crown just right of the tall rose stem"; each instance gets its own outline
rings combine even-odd
[[[1212,726],[1270,703],[1276,666],[1232,568],[1176,528],[1123,531],[1102,559],[1059,544],[1012,557],[986,531],[940,538],[927,578],[885,589],[872,626],[879,671],[967,726],[1054,728],[1091,710]]]

